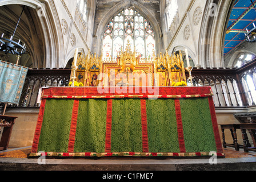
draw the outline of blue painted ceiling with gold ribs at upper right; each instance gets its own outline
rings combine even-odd
[[[256,5],[255,0],[253,3]],[[255,20],[256,11],[251,1],[236,0],[227,25],[224,55],[232,52],[234,48],[245,41],[245,34],[247,34],[247,30],[250,31],[254,27]]]

